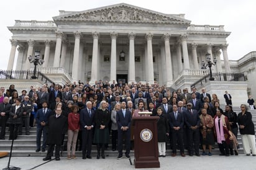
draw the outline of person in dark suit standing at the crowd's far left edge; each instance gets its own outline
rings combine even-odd
[[[6,122],[7,122],[7,119],[9,118],[10,109],[11,109],[11,104],[9,104],[9,98],[4,97],[4,102],[0,104],[0,125],[1,125],[0,140],[5,140]]]

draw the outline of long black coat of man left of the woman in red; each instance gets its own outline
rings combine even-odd
[[[68,121],[64,115],[56,118],[51,115],[47,123],[47,144],[62,145],[63,135],[68,129]]]

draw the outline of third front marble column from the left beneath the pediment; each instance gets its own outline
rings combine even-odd
[[[93,60],[91,62],[91,81],[90,84],[94,84],[95,81],[98,81],[98,41],[99,41],[99,32],[93,32]]]

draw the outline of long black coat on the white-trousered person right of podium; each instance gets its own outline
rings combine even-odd
[[[158,142],[165,142],[167,140],[167,133],[169,133],[169,124],[167,117],[163,114],[159,116],[157,122]]]

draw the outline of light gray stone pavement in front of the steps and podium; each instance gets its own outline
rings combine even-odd
[[[9,158],[0,159],[0,169],[7,166],[7,161]],[[67,160],[66,157],[61,157],[60,161],[45,162],[42,161],[43,157],[14,157],[11,158],[11,166],[16,166],[21,169],[32,169],[39,164],[37,170],[40,169],[135,169],[134,165],[130,165],[128,159],[117,160],[114,156],[106,157],[106,159],[72,159]],[[132,157],[132,163],[133,163]],[[243,170],[255,170],[256,169],[256,157],[245,156],[244,154],[239,154],[239,156],[186,156],[182,158],[181,156],[176,156],[175,158],[167,156],[165,158],[159,158],[160,168],[150,168],[150,169],[243,169]]]

